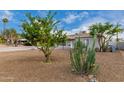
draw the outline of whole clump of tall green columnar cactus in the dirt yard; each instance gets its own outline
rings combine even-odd
[[[93,38],[92,47],[81,42],[80,38],[75,42],[70,52],[72,69],[79,74],[96,74],[98,65],[95,63],[95,41]]]

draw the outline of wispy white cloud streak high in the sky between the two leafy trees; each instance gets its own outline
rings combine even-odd
[[[88,16],[88,12],[81,13],[68,13],[68,15],[63,18],[63,22],[70,24],[75,22],[76,20],[82,20],[82,18]]]

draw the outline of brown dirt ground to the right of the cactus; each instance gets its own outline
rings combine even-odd
[[[96,61],[100,65],[99,81],[124,81],[124,60],[120,52],[97,53]]]

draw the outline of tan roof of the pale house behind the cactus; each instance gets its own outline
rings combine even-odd
[[[81,32],[73,34],[73,35],[68,35],[69,40],[75,40],[77,37],[92,38],[89,33],[86,33],[86,31],[81,31]]]

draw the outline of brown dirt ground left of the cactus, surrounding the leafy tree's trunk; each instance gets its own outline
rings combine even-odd
[[[43,60],[43,54],[36,50],[0,53],[0,81],[85,81],[71,73],[68,51],[54,51],[51,64]]]

